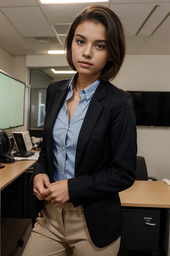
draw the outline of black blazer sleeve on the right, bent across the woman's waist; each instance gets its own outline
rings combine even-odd
[[[135,181],[137,132],[133,98],[126,93],[120,99],[111,128],[113,158],[111,166],[93,175],[68,179],[70,201],[80,204],[111,197],[131,187]]]

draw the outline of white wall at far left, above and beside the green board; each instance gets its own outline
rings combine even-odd
[[[26,57],[14,57],[0,48],[0,69],[21,80],[27,84],[28,68],[26,67]],[[12,131],[26,131],[28,128],[28,102],[29,87],[25,90],[25,110],[24,110],[24,126],[5,130],[8,136],[12,135]]]

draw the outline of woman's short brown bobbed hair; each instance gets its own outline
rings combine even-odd
[[[118,16],[109,8],[102,5],[91,4],[81,10],[70,25],[64,42],[65,58],[68,66],[76,70],[72,62],[71,46],[77,26],[85,21],[103,24],[106,27],[107,51],[112,59],[108,60],[102,70],[100,79],[103,81],[113,80],[119,73],[124,62],[126,53],[125,33]]]

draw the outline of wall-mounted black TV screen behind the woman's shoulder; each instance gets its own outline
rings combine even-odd
[[[170,92],[127,92],[134,100],[136,125],[170,126]]]

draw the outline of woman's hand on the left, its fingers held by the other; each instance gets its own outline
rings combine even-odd
[[[45,197],[41,196],[42,191],[44,191],[48,186],[50,186],[49,177],[47,174],[39,173],[33,178],[34,194],[39,200],[44,200]]]

